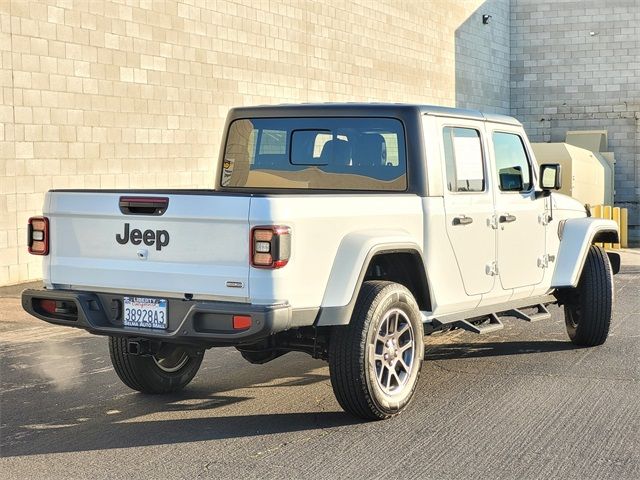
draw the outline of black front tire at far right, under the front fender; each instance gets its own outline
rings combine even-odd
[[[603,248],[592,245],[578,286],[564,306],[567,333],[582,347],[602,345],[609,336],[613,310],[613,272]]]

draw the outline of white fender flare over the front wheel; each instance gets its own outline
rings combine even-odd
[[[594,242],[617,243],[620,238],[616,222],[592,217],[565,220],[561,231],[556,268],[551,279],[552,288],[576,287],[589,247]],[[619,261],[617,265],[619,268]]]

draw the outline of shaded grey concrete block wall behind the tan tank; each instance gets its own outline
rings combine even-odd
[[[608,130],[616,203],[640,242],[640,2],[512,0],[511,114],[535,142]]]

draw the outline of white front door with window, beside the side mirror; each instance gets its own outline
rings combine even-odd
[[[545,255],[545,203],[536,198],[531,155],[518,129],[491,132],[496,188],[498,272],[505,290],[540,283]]]

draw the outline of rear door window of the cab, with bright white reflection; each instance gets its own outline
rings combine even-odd
[[[449,191],[484,191],[480,132],[473,128],[445,127],[443,135]]]

